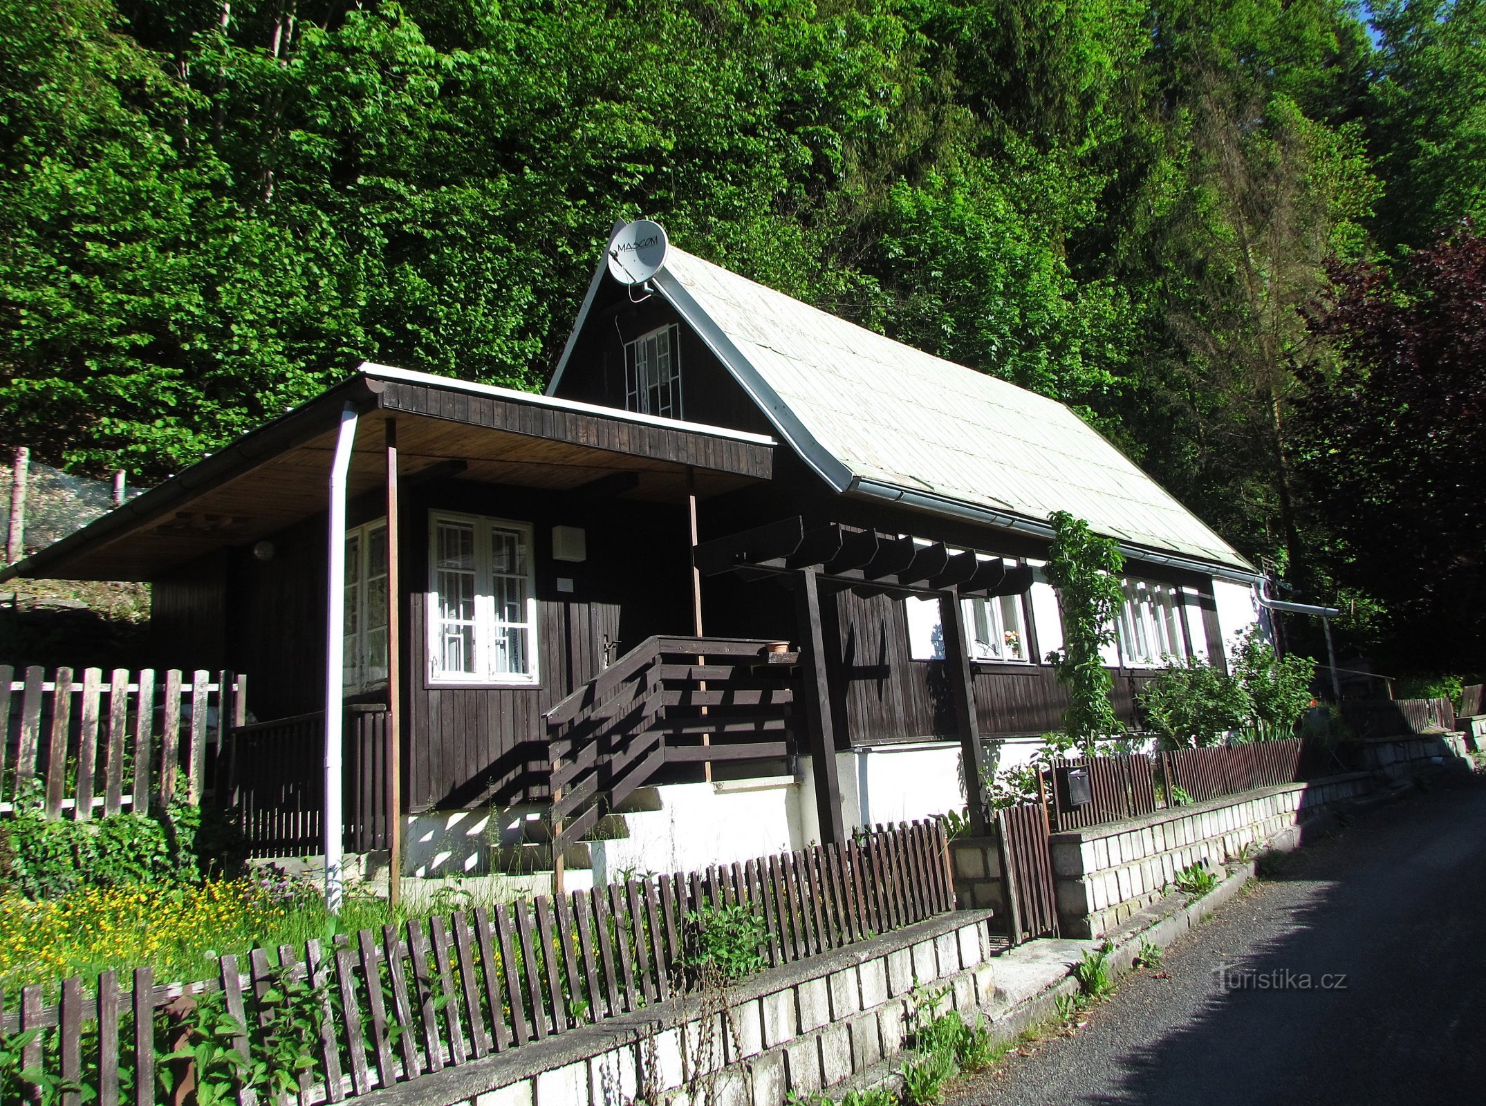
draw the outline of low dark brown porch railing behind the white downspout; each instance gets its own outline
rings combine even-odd
[[[324,713],[257,721],[232,730],[224,791],[253,857],[324,852]],[[388,848],[388,710],[346,708],[343,730],[345,848]]]

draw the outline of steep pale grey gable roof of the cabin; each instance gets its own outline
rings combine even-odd
[[[603,278],[594,275],[584,312]],[[1126,552],[1253,566],[1055,399],[893,341],[675,246],[651,281],[837,491],[1048,533],[1068,511]],[[548,392],[556,389],[569,349]],[[1164,557],[1165,555],[1165,557]]]

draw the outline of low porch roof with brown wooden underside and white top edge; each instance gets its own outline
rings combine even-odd
[[[77,533],[0,570],[33,579],[152,580],[257,542],[327,508],[336,426],[361,413],[349,494],[385,487],[397,419],[403,481],[450,474],[574,491],[629,474],[608,494],[675,502],[773,475],[774,439],[719,426],[364,364],[343,383],[238,438]]]

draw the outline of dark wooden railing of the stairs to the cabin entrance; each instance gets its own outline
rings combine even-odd
[[[768,644],[649,637],[547,711],[554,854],[663,765],[794,754],[794,655]]]

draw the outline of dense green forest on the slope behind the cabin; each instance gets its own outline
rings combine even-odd
[[[1482,671],[1483,208],[1486,0],[0,0],[0,445],[149,484],[363,359],[539,389],[645,215]]]

